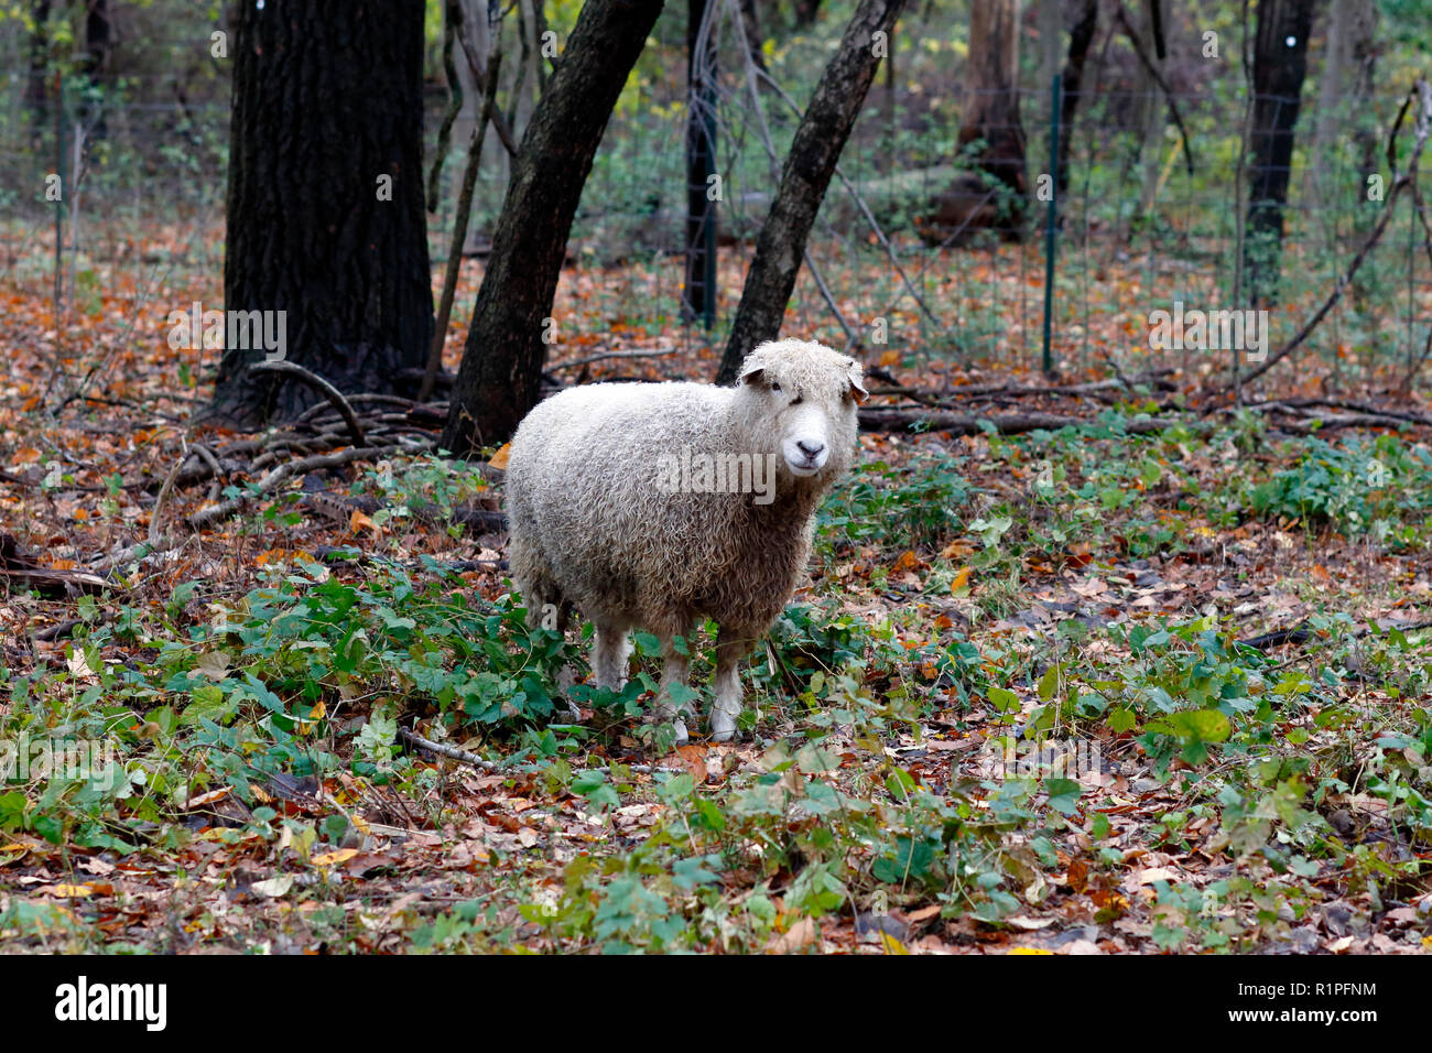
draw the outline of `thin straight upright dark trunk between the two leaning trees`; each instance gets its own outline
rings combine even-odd
[[[686,23],[686,282],[682,311],[709,330],[716,314],[716,34],[697,36],[707,0],[687,0]]]

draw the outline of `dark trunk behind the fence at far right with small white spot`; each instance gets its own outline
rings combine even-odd
[[[1277,297],[1283,208],[1293,166],[1293,129],[1307,70],[1307,34],[1315,0],[1259,0],[1253,46],[1250,189],[1243,272],[1249,301],[1267,307]]]

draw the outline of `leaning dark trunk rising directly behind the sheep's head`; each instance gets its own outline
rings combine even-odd
[[[888,46],[904,4],[905,0],[861,0],[821,74],[780,170],[776,199],[756,239],[756,255],[716,375],[719,384],[736,380],[746,354],[780,332],[816,212],[881,64],[878,53],[885,49],[874,46],[875,33],[884,33]]]

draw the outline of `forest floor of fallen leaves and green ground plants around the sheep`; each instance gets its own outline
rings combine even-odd
[[[583,282],[554,358],[653,357],[563,380],[713,372]],[[326,411],[196,430],[163,318],[218,291],[97,288],[0,291],[4,950],[1432,947],[1423,404],[884,351],[872,405],[1078,423],[862,434],[740,741],[673,749],[643,636],[557,716],[583,642],[528,638],[501,471],[435,457],[440,411],[358,407],[372,457]]]

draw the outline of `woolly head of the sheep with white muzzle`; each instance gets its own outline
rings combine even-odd
[[[740,367],[740,405],[759,453],[796,477],[843,473],[855,448],[861,364],[823,344],[760,344]]]

